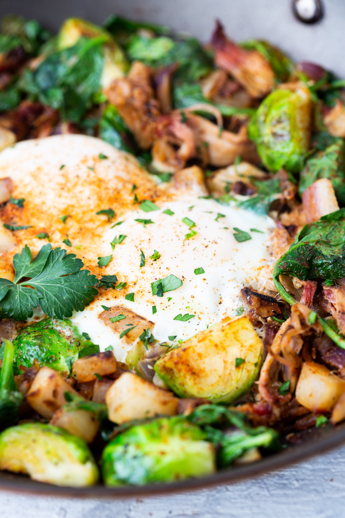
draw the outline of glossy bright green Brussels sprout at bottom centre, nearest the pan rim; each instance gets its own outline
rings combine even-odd
[[[198,425],[181,416],[133,426],[104,448],[104,482],[143,485],[214,473],[214,448],[205,438]]]

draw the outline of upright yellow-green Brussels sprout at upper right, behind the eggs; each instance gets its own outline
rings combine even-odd
[[[248,136],[270,171],[298,172],[310,145],[311,99],[307,88],[275,90],[259,106]]]

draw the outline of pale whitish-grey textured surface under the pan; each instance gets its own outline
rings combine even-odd
[[[1,518],[331,518],[345,516],[345,447],[213,490],[155,498],[69,500],[0,492]]]

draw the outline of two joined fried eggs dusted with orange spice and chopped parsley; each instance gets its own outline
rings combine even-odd
[[[154,322],[157,340],[170,343],[171,337],[186,340],[225,316],[240,314],[243,286],[260,289],[273,220],[207,198],[198,168],[180,171],[175,182],[158,183],[131,155],[100,139],[57,135],[1,152],[0,178],[6,177],[13,181],[12,196],[25,202],[23,208],[7,204],[2,220],[30,225],[13,233],[14,246],[4,254],[8,263],[25,244],[36,254],[44,244],[36,236],[47,233],[53,248],[76,254],[98,278],[116,275],[126,282],[121,290],[100,289],[93,302],[71,318],[101,351],[113,346],[119,361],[131,346],[99,320],[102,306],[132,310]],[[145,212],[142,200],[158,208]],[[111,221],[107,214],[96,214],[107,209],[115,212]],[[238,242],[235,228],[251,239]],[[126,237],[112,249],[119,235]],[[99,267],[98,258],[109,255],[109,264]],[[183,285],[153,296],[151,283],[171,274]],[[125,298],[130,293],[134,300]],[[175,320],[179,314],[193,316]]]

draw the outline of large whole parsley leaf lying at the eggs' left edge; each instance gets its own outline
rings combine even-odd
[[[66,254],[66,250],[52,250],[49,243],[43,245],[34,261],[25,245],[21,254],[14,255],[13,266],[13,282],[0,279],[3,318],[27,320],[33,316],[33,308],[40,305],[48,316],[64,320],[74,309],[83,311],[98,293],[93,287],[98,279],[81,269],[81,259]],[[20,282],[23,278],[30,280]]]

